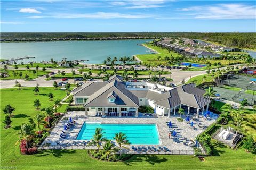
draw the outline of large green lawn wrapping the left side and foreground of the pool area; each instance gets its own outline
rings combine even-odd
[[[18,90],[1,89],[1,122],[4,114],[2,108],[11,104],[15,107],[12,127],[3,128],[1,123],[1,166],[17,166],[17,169],[253,169],[256,156],[243,149],[232,150],[218,144],[214,145],[213,156],[201,162],[197,157],[184,155],[134,155],[127,162],[102,162],[89,157],[87,150],[44,150],[36,155],[21,155],[18,131],[22,122],[41,113],[33,107],[35,99],[41,101],[41,109],[51,106],[47,94],[52,92],[54,99],[62,99],[66,92],[54,88],[40,88],[34,95],[33,88]],[[26,99],[26,100],[25,100]],[[65,108],[61,106],[59,111]]]

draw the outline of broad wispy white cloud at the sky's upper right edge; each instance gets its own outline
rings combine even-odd
[[[255,19],[256,7],[244,4],[193,6],[180,11],[196,19]]]

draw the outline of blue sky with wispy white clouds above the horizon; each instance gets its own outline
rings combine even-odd
[[[255,32],[256,1],[1,1],[1,32]]]

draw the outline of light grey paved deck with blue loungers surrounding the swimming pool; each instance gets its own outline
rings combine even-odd
[[[72,128],[71,131],[69,131],[69,134],[67,135],[67,138],[64,140],[60,140],[60,133],[63,130],[63,126],[65,123],[68,123],[68,118],[71,117],[73,120],[76,121],[76,125],[74,128]],[[93,117],[89,116],[86,117],[84,112],[79,111],[73,111],[69,112],[68,114],[65,114],[65,116],[62,117],[62,119],[57,123],[57,125],[53,128],[51,131],[49,137],[45,139],[45,141],[42,143],[42,145],[39,147],[39,149],[90,149],[95,148],[95,146],[81,146],[81,145],[74,145],[72,144],[73,141],[77,141],[76,137],[79,133],[79,131],[82,128],[82,125],[85,121],[100,121],[101,123],[117,123],[117,124],[156,124],[158,133],[159,133],[159,139],[160,144],[159,145],[130,145],[128,146],[130,149],[123,150],[123,152],[128,152],[131,154],[177,154],[177,155],[193,155],[194,149],[193,147],[190,147],[188,145],[183,144],[184,138],[187,138],[188,140],[194,140],[198,134],[202,133],[209,125],[211,125],[215,120],[213,118],[207,118],[205,120],[203,116],[199,116],[197,120],[193,120],[195,129],[190,129],[190,124],[187,124],[185,120],[183,122],[179,122],[177,120],[179,116],[173,116],[173,117],[164,117],[164,116],[158,116],[156,118],[145,118],[145,117],[134,117],[134,118],[122,118],[122,117],[107,117],[107,118],[101,118],[101,117]],[[183,117],[184,118],[184,117]],[[169,128],[167,126],[167,122],[171,121],[173,124],[173,128]],[[205,125],[205,128],[200,128],[198,125],[199,123],[202,123]],[[169,132],[170,130],[174,130],[177,132],[176,138],[177,141],[174,141],[173,137],[171,136],[169,138]],[[114,140],[113,140],[114,141]],[[57,144],[60,142],[60,144]],[[114,141],[115,142],[115,141]],[[50,145],[46,145],[46,143],[50,143]],[[156,147],[158,149],[159,146],[167,147],[170,151],[133,151],[131,150],[131,147]],[[201,148],[202,152],[203,149],[201,146],[198,145],[199,148]]]

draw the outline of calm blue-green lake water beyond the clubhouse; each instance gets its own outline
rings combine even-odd
[[[97,40],[97,41],[52,41],[28,43],[0,43],[1,58],[35,57],[28,61],[50,61],[51,58],[60,61],[89,60],[86,63],[103,63],[107,57],[131,57],[136,54],[147,54],[144,46],[150,39],[136,40]]]

